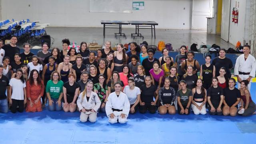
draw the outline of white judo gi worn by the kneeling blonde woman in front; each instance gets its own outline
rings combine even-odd
[[[95,122],[96,118],[97,118],[97,110],[100,108],[100,98],[98,97],[98,94],[96,94],[95,92],[91,92],[90,98],[87,101],[86,95],[84,96],[84,98],[82,99],[83,96],[83,92],[80,93],[78,100],[77,100],[77,106],[79,111],[81,111],[83,108],[85,108],[86,110],[91,110],[93,109],[95,112],[82,112],[80,114],[80,121],[81,122],[86,122],[87,118],[89,116],[89,121],[90,122]]]

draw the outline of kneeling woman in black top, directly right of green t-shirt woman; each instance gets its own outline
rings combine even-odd
[[[68,82],[63,84],[63,97],[64,102],[63,110],[64,112],[74,112],[76,111],[76,100],[78,97],[79,84],[75,82],[76,76],[74,74],[68,75]]]

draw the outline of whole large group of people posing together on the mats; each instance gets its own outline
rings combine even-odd
[[[26,112],[40,112],[48,102],[50,111],[80,111],[81,122],[95,122],[97,112],[104,112],[113,124],[126,123],[128,115],[137,111],[206,114],[208,108],[211,115],[248,116],[256,110],[250,96],[256,63],[248,45],[236,60],[237,89],[230,73],[233,64],[224,49],[212,64],[207,55],[200,66],[186,46],[175,58],[163,48],[158,60],[154,49],[136,42],[128,51],[122,44],[114,51],[106,41],[96,54],[86,42],[81,42],[79,52],[68,50],[70,41],[64,39],[62,50],[49,52],[44,43],[36,55],[30,44],[24,44],[19,54],[16,42],[16,36],[4,46],[0,40],[0,112],[8,112],[8,105],[13,113],[23,112],[25,106]]]

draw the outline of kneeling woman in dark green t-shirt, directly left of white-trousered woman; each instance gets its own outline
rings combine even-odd
[[[176,96],[178,97],[178,114],[190,114],[190,104],[192,101],[192,90],[188,89],[184,80],[180,81],[180,90]]]

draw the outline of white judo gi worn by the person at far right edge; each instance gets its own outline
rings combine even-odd
[[[246,60],[244,60],[244,54],[241,54],[240,56],[238,56],[238,58],[236,59],[236,65],[234,68],[234,76],[238,75],[241,78],[241,80],[246,80],[247,78],[249,78],[249,76],[254,78],[255,71],[256,71],[256,61],[251,54],[248,55],[248,58]],[[244,73],[250,72],[250,74],[244,75],[244,74],[239,74],[239,72],[244,72]],[[252,79],[250,80],[247,86],[249,91],[250,91],[251,82],[252,82]],[[238,88],[240,88],[240,83],[238,83]]]

